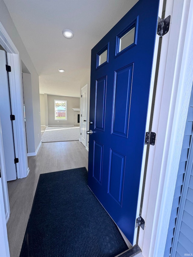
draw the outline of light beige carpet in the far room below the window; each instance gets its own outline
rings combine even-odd
[[[80,127],[53,126],[47,127],[42,135],[42,142],[61,142],[79,140]]]

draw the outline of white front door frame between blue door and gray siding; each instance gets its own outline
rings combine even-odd
[[[193,0],[168,0],[138,244],[144,257],[163,256],[193,81]]]

